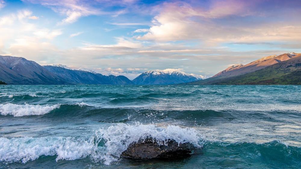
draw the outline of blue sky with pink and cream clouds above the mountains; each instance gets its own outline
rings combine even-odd
[[[0,55],[134,79],[301,52],[300,0],[0,0]]]

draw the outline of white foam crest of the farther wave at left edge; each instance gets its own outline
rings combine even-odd
[[[19,105],[19,104],[0,104],[1,115],[13,115],[15,117],[19,116],[30,116],[30,115],[43,115],[49,113],[51,110],[59,108],[60,104],[55,105]]]

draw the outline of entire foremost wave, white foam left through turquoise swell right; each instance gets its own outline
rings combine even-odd
[[[147,137],[156,138],[159,144],[164,144],[161,141],[166,139],[192,143],[196,147],[194,153],[201,152],[203,158],[212,158],[216,162],[231,159],[241,163],[253,163],[265,159],[271,165],[300,165],[298,161],[301,147],[286,145],[277,140],[266,143],[207,141],[193,128],[123,123],[99,129],[90,137],[2,137],[0,161],[6,164],[26,163],[41,156],[56,156],[56,161],[90,158],[95,163],[110,165],[118,163],[121,153],[132,142]]]

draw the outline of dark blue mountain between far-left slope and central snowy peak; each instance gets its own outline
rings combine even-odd
[[[43,67],[71,84],[132,84],[132,81],[125,76],[104,76],[99,73],[49,65]]]

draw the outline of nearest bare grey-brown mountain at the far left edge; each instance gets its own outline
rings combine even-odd
[[[12,56],[0,56],[0,80],[8,84],[65,83],[36,62]]]

